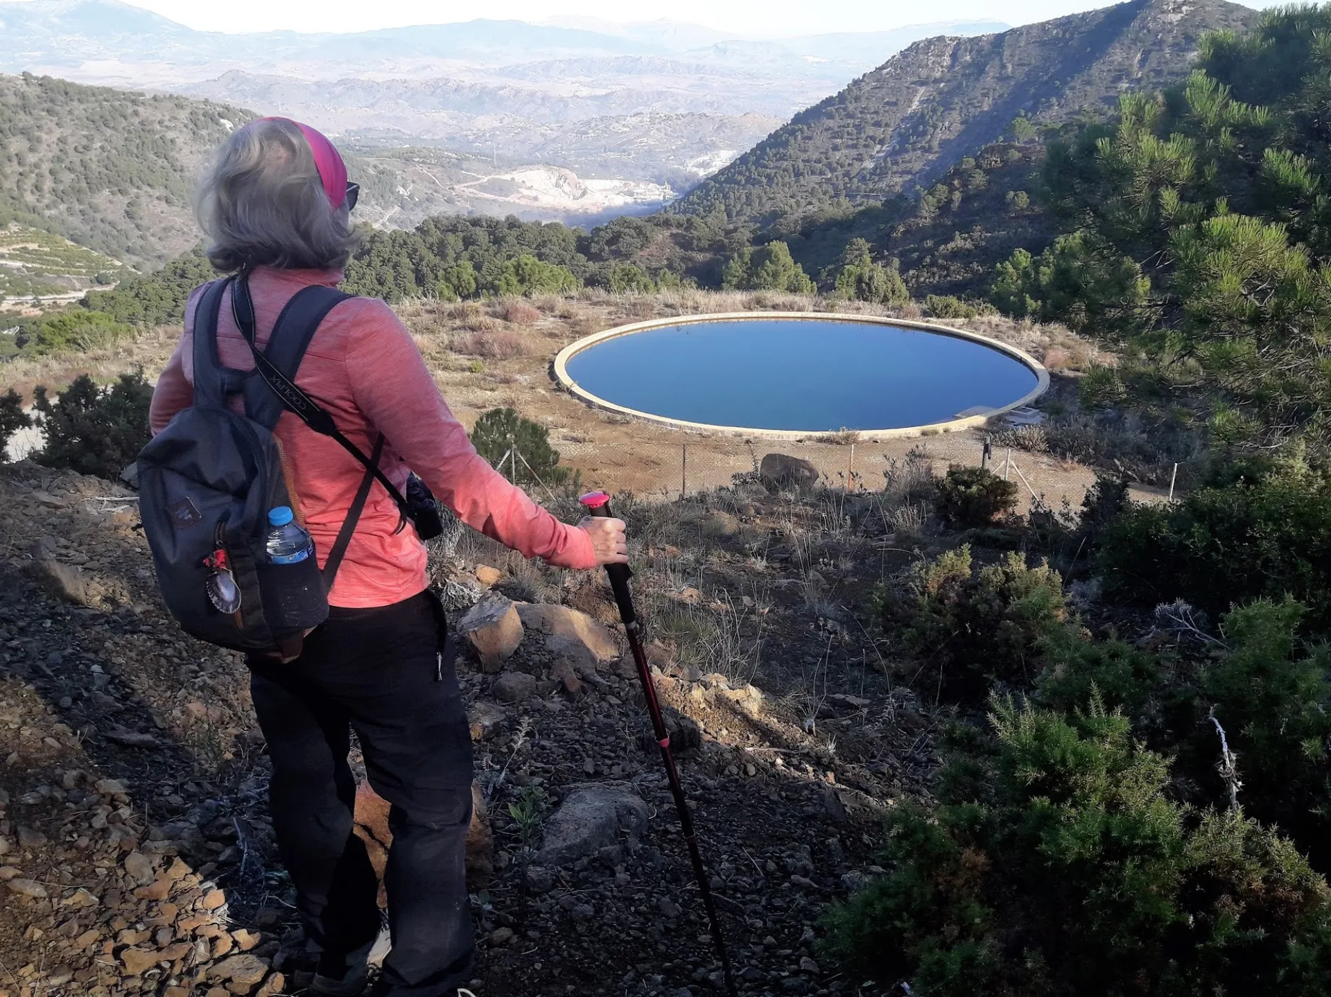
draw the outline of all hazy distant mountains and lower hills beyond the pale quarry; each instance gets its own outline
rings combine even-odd
[[[659,185],[671,198],[904,45],[1004,27],[771,41],[675,21],[482,19],[222,35],[118,0],[27,0],[0,4],[0,72],[205,97],[297,117],[377,154],[433,146],[496,169],[534,162]]]

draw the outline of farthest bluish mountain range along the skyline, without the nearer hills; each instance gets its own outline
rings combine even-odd
[[[940,32],[974,35],[1006,25],[944,21],[893,31],[813,35],[779,41],[728,39],[692,24],[611,24],[560,19],[547,24],[473,20],[350,33],[222,35],[186,28],[117,0],[29,0],[0,5],[0,71],[145,85],[153,73],[176,81],[229,68],[306,79],[375,73],[421,79],[450,64],[498,68],[522,63],[614,56],[681,56],[733,71],[844,81],[888,55]],[[857,68],[858,67],[858,68]],[[116,79],[117,76],[122,79]]]

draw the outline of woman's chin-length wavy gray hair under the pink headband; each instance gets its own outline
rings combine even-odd
[[[222,272],[250,266],[346,266],[358,238],[346,205],[333,208],[314,153],[290,121],[254,121],[217,153],[194,194],[194,214]]]

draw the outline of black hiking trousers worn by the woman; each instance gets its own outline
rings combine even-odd
[[[473,956],[465,851],[471,736],[453,663],[439,664],[433,595],[333,608],[287,664],[250,659],[254,712],[273,761],[269,803],[309,937],[355,952],[379,930],[378,883],[351,833],[350,731],[370,785],[391,804],[385,872],[391,997],[453,997]],[[378,993],[378,990],[377,990]]]

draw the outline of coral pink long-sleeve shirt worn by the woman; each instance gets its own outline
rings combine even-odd
[[[250,276],[257,342],[268,342],[286,302],[311,284],[337,285],[341,270],[277,270]],[[153,391],[150,423],[161,433],[172,417],[193,405],[196,290],[185,309],[185,334]],[[230,294],[217,323],[224,366],[250,370],[254,358],[232,318]],[[379,466],[406,490],[414,470],[458,518],[524,556],[551,564],[592,568],[596,556],[586,530],[567,526],[510,485],[479,454],[453,415],[410,334],[393,310],[375,298],[337,305],[310,341],[295,377],[338,429],[369,454],[385,437]],[[233,405],[240,409],[240,399]],[[303,522],[314,538],[319,563],[327,558],[346,519],[365,469],[342,446],[314,433],[291,413],[282,413],[276,435],[294,478]],[[398,507],[382,485],[374,485],[355,535],[346,551],[329,603],[349,608],[390,606],[426,587],[426,550],[410,526],[397,531]]]

